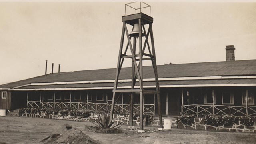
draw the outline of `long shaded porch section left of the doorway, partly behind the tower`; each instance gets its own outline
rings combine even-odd
[[[70,90],[70,91],[38,91],[27,92],[26,107],[30,108],[52,108],[52,109],[74,109],[104,111],[110,110],[112,106],[111,90]],[[143,112],[155,115],[154,94],[144,94]],[[134,111],[140,111],[139,96],[134,94]],[[115,111],[129,113],[130,95],[118,93],[115,100]]]

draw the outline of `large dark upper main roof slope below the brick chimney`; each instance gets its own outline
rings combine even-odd
[[[195,76],[256,76],[256,60],[238,60],[225,62],[203,62],[191,64],[159,65],[159,78],[195,77]],[[0,88],[13,88],[30,83],[72,82],[89,80],[114,80],[116,68],[60,72],[38,76],[18,82],[3,84]],[[130,79],[131,68],[122,68],[119,79]],[[152,66],[143,67],[143,78],[154,78]],[[81,85],[81,84],[79,84]]]

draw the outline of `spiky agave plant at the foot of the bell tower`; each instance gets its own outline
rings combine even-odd
[[[92,122],[93,124],[96,125],[97,128],[101,129],[104,132],[109,132],[111,129],[113,128],[120,128],[120,126],[122,126],[121,123],[119,124],[115,124],[115,119],[113,120],[113,118],[110,116],[108,111],[104,111],[104,112],[97,112],[98,114],[98,121],[95,120],[95,118],[93,118],[95,120],[95,122],[97,124],[95,124],[94,122]]]

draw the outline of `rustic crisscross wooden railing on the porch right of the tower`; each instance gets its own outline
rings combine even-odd
[[[214,107],[214,108],[213,108]],[[226,106],[226,105],[183,105],[183,113],[188,114],[217,114],[234,116],[256,116],[256,106]]]

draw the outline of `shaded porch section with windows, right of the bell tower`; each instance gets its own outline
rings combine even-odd
[[[196,89],[182,90],[182,113],[256,116],[253,87]]]

